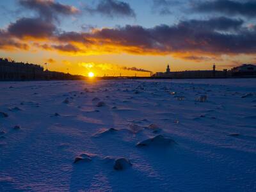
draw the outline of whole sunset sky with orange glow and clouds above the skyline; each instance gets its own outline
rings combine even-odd
[[[0,16],[0,57],[71,74],[256,63],[254,0],[4,0]]]

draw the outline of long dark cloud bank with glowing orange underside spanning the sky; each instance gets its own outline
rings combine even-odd
[[[244,21],[241,19],[193,19],[183,20],[172,26],[143,28],[127,25],[80,33],[58,33],[51,22],[48,25],[40,19],[37,22],[35,19],[20,19],[11,24],[5,33],[20,40],[26,36],[47,38],[44,44],[38,44],[36,47],[77,54],[172,54],[187,60],[204,60],[221,54],[256,53],[256,28],[244,27]],[[31,26],[34,30],[29,30]]]

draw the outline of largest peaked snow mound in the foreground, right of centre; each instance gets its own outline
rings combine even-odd
[[[146,146],[155,146],[155,147],[168,147],[170,145],[177,144],[174,140],[170,138],[165,138],[163,135],[159,134],[154,138],[149,138],[148,140],[141,141],[136,146],[137,147],[146,147]]]

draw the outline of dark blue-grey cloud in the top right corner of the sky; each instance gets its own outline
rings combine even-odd
[[[227,15],[243,15],[246,17],[256,16],[256,1],[231,1],[216,0],[202,1],[195,4],[195,10],[199,12],[218,12]]]

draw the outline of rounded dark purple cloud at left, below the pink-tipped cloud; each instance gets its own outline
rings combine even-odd
[[[19,38],[48,38],[55,30],[54,24],[39,18],[22,18],[8,26],[10,35]]]

